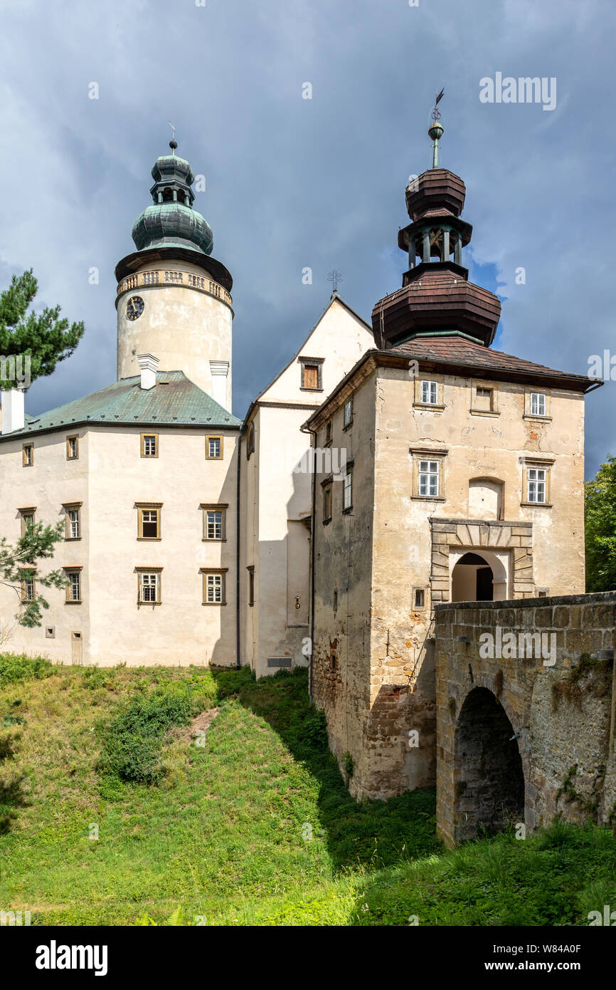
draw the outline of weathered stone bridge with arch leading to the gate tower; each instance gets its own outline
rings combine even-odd
[[[437,830],[616,827],[616,592],[435,608]]]

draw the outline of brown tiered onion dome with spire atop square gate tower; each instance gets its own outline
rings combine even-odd
[[[437,98],[437,105],[440,97]],[[382,347],[395,347],[415,337],[460,335],[484,347],[494,339],[500,302],[492,292],[469,282],[462,248],[473,228],[460,214],[466,187],[459,175],[438,167],[438,142],[443,135],[437,105],[428,134],[433,142],[432,168],[406,187],[410,224],[398,232],[397,244],[408,253],[402,287],[381,299],[372,323]]]

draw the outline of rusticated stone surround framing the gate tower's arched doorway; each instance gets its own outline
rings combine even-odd
[[[532,598],[533,524],[521,521],[478,519],[430,519],[432,559],[430,597],[432,604],[450,601],[450,547],[509,549],[512,555],[511,597]]]

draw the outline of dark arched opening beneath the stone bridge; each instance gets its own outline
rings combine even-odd
[[[524,773],[505,710],[487,688],[467,695],[456,728],[455,841],[524,821]]]

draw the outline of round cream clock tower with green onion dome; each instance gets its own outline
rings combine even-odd
[[[132,225],[136,250],[116,267],[118,379],[138,375],[139,354],[151,354],[160,371],[183,371],[230,411],[232,279],[193,208],[190,163],[169,147],[151,170],[152,205]]]

